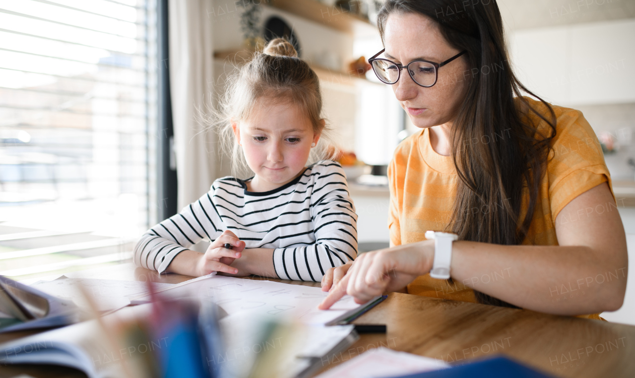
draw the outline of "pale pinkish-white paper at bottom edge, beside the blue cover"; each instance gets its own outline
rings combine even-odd
[[[316,378],[387,378],[429,372],[449,367],[434,358],[398,352],[388,348],[370,349],[356,358],[318,375]]]

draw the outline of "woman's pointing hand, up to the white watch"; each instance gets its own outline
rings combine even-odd
[[[418,276],[428,273],[433,259],[432,240],[361,254],[337,285],[333,285],[318,308],[330,308],[345,294],[361,304],[384,292],[401,289]]]

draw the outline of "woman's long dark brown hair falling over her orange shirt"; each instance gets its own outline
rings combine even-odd
[[[450,141],[459,180],[447,230],[457,233],[459,240],[521,244],[556,134],[556,115],[512,72],[496,1],[387,0],[377,18],[382,41],[392,13],[431,18],[451,46],[467,51],[469,88]],[[521,91],[542,101],[551,119],[533,109]],[[549,135],[538,133],[529,112],[551,126]],[[528,211],[521,219],[521,202],[527,196]],[[476,290],[475,295],[479,303],[516,307]]]

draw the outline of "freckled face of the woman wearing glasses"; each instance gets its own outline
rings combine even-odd
[[[418,13],[388,16],[384,43],[385,57],[402,65],[417,59],[441,63],[460,52],[445,41],[436,22]],[[469,68],[463,55],[439,68],[438,80],[430,88],[412,81],[404,69],[392,90],[415,126],[438,126],[455,118],[467,91],[467,77]]]

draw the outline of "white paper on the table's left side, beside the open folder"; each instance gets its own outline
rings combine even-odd
[[[81,308],[88,308],[86,298],[78,288],[80,285],[93,297],[99,311],[117,310],[128,306],[130,297],[148,293],[148,287],[145,282],[69,278],[65,276],[53,281],[36,282],[31,286],[51,294],[51,296],[69,299]],[[163,290],[172,286],[172,283],[154,283],[156,290]]]

